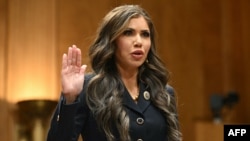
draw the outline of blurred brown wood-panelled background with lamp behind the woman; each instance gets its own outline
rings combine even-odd
[[[250,123],[249,0],[0,0],[1,141],[45,140],[62,54],[76,44],[89,64],[101,19],[121,4],[155,23],[184,141],[222,141],[224,124]]]

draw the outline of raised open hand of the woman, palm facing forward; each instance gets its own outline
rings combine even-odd
[[[61,83],[62,93],[66,98],[66,104],[75,101],[80,94],[84,83],[86,65],[82,65],[81,50],[75,45],[68,48],[68,54],[63,54]]]

